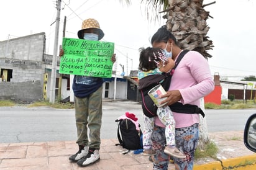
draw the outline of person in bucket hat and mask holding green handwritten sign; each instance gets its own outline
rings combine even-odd
[[[72,88],[79,150],[69,159],[79,166],[87,166],[99,161],[103,78],[111,78],[116,54],[114,43],[98,42],[104,32],[95,19],[83,21],[78,37],[80,40],[63,39],[60,73],[75,74]]]

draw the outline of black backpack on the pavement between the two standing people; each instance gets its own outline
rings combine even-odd
[[[136,129],[134,123],[129,119],[117,119],[117,138],[119,143],[116,145],[121,145],[127,150],[139,150],[142,149],[142,130]]]

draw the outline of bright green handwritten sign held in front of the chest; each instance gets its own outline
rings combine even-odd
[[[112,77],[114,43],[63,38],[60,73],[100,78]]]

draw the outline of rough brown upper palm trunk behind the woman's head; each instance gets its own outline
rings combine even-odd
[[[203,0],[169,0],[167,28],[183,49],[194,50],[205,58],[212,57],[207,51],[213,49],[213,42],[206,36],[209,30],[206,20],[211,17],[204,10]],[[214,2],[213,2],[214,3]],[[211,4],[213,4],[211,3]]]

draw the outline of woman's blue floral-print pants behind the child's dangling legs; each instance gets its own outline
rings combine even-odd
[[[165,128],[155,125],[151,139],[152,148],[157,152],[153,156],[153,170],[167,170],[170,156],[163,152],[166,143]],[[186,155],[186,159],[173,158],[176,170],[193,170],[194,151],[198,145],[198,139],[199,123],[175,129],[176,147]]]

